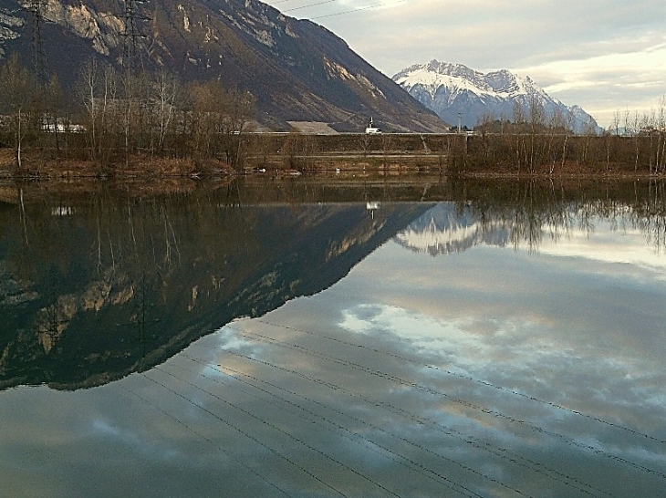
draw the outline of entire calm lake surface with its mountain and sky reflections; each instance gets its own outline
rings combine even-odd
[[[0,202],[23,496],[664,496],[658,184]]]

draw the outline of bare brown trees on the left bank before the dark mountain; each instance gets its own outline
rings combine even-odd
[[[150,153],[235,164],[239,135],[254,117],[249,92],[220,81],[182,84],[171,74],[118,70],[91,59],[65,95],[9,57],[0,67],[0,145],[42,157],[77,157],[101,167]],[[82,157],[83,156],[83,157]]]

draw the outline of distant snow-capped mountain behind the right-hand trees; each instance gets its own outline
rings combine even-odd
[[[505,69],[484,74],[462,64],[432,60],[403,69],[393,81],[454,126],[459,118],[461,126],[470,129],[484,117],[513,121],[516,104],[528,115],[531,102],[536,101],[545,110],[546,119],[558,112],[574,131],[598,130],[597,122],[585,110],[566,106],[529,77],[521,78]]]

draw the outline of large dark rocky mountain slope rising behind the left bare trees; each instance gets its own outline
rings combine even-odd
[[[0,58],[33,60],[27,0],[0,0]],[[442,130],[442,122],[325,28],[282,15],[257,0],[145,0],[128,17],[123,0],[44,0],[41,38],[47,67],[71,90],[95,57],[120,67],[166,68],[182,81],[219,79],[249,91],[258,120],[320,121],[362,130],[370,116],[387,130]],[[131,26],[134,26],[132,36]]]

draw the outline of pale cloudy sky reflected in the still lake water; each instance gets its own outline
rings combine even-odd
[[[619,262],[591,244],[599,233],[626,254],[645,244],[599,225],[537,253],[470,244],[432,257],[393,241],[328,290],[69,393],[62,410],[39,410],[62,393],[7,391],[4,454],[53,455],[11,472],[5,459],[10,490],[659,496],[661,256]]]

